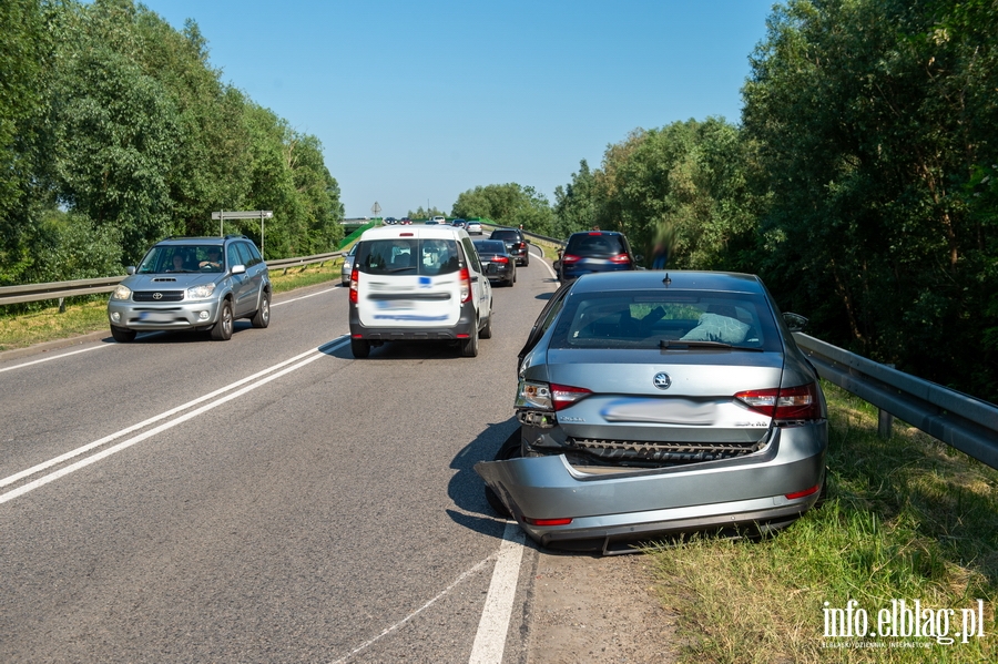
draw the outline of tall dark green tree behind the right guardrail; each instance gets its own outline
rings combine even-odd
[[[991,398],[996,27],[992,2],[793,0],[743,92],[771,203],[758,265],[784,306]]]

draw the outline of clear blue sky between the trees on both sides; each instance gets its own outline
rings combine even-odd
[[[223,81],[322,141],[346,215],[554,187],[634,129],[739,122],[773,0],[146,0]]]

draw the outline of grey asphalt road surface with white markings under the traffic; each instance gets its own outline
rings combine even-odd
[[[0,361],[0,662],[521,661],[531,548],[471,468],[516,428],[516,354],[554,287],[537,256],[496,287],[477,358],[355,360],[330,284],[226,343]]]

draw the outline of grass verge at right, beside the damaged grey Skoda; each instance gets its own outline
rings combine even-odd
[[[882,440],[872,406],[824,389],[829,470],[819,507],[761,541],[694,537],[651,550],[663,605],[678,616],[680,661],[998,661],[998,471],[900,422]],[[960,610],[982,600],[985,636],[826,636],[824,610],[851,600],[873,632],[892,601],[910,609],[918,600],[934,612],[934,634],[948,617],[950,637],[961,632]]]

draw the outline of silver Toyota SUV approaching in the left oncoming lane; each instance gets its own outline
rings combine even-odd
[[[140,331],[211,330],[232,337],[237,318],[253,327],[271,323],[271,277],[253,241],[169,237],[157,242],[111,294],[108,318],[115,341]]]

